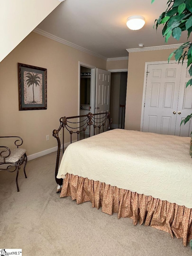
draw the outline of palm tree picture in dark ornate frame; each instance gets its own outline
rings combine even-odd
[[[19,110],[47,109],[47,70],[18,63]]]

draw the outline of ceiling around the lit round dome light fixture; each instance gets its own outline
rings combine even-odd
[[[166,45],[161,34],[153,29],[154,20],[165,11],[167,0],[65,0],[39,25],[41,29],[58,38],[85,48],[105,58],[128,56],[126,49]],[[145,17],[145,26],[137,31],[128,29],[127,18],[132,15]],[[180,41],[170,38],[168,44],[183,43],[187,34],[182,32]]]

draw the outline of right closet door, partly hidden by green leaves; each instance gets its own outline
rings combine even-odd
[[[185,119],[186,116],[192,113],[192,87],[189,85],[186,88],[186,84],[190,79],[190,74],[188,70],[189,68],[187,68],[187,63],[183,63],[175,131],[175,135],[184,137],[190,137],[190,133],[192,131],[191,119],[186,123],[186,125],[182,124],[180,126],[181,121]]]

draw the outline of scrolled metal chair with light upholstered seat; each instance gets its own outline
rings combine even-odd
[[[7,170],[10,173],[12,173],[14,171],[17,172],[16,173],[16,185],[17,185],[17,191],[19,192],[19,186],[18,186],[17,179],[18,179],[18,175],[19,175],[19,170],[23,163],[25,163],[23,170],[24,170],[25,177],[27,178],[27,175],[25,172],[25,167],[27,164],[26,149],[19,148],[19,146],[22,145],[23,140],[19,136],[0,136],[0,138],[4,138],[4,139],[5,138],[18,138],[14,142],[16,148],[9,148],[7,146],[1,146],[2,143],[0,141],[0,170]],[[1,175],[1,173],[0,173],[0,175]]]

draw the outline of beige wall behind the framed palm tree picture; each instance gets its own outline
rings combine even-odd
[[[21,136],[28,155],[55,147],[59,118],[79,113],[79,61],[106,69],[104,60],[30,33],[0,62],[1,135]],[[18,62],[47,68],[47,110],[19,111]]]

